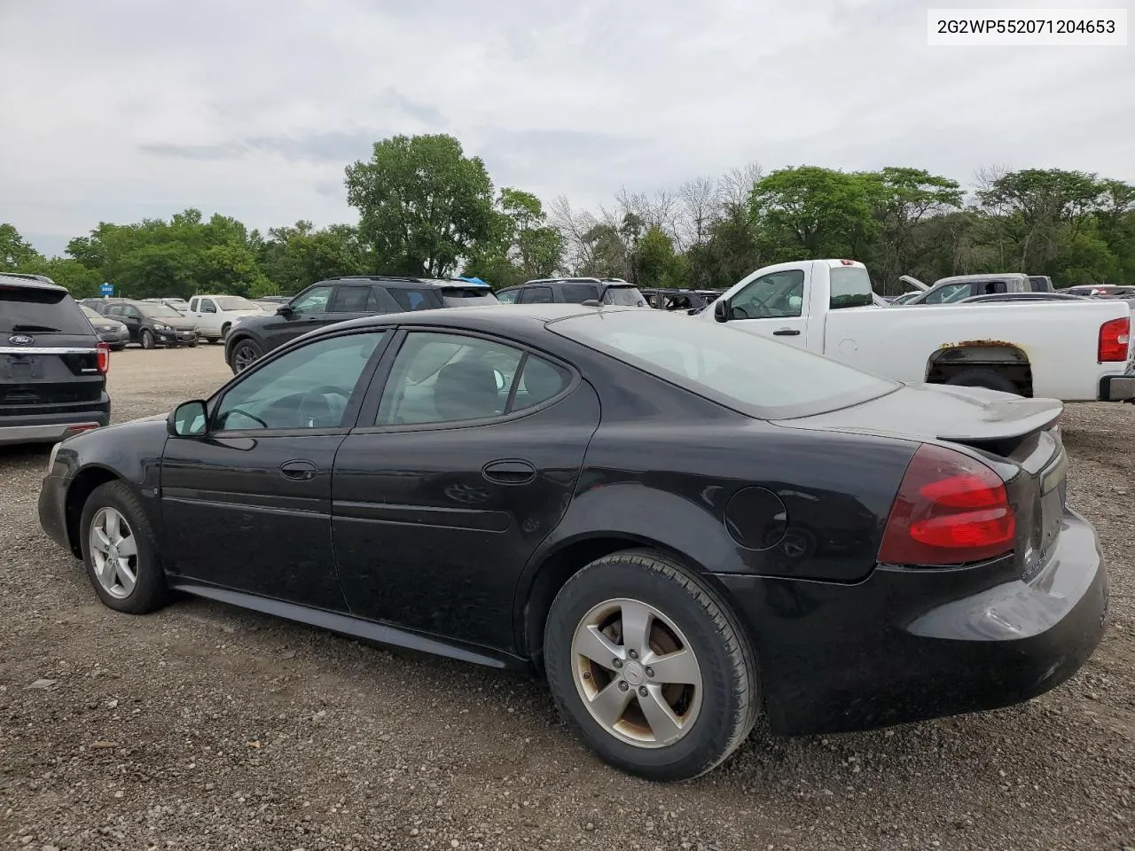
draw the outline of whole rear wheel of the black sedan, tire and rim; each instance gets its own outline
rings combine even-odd
[[[692,572],[653,550],[615,553],[568,580],[544,652],[553,697],[588,744],[649,780],[705,774],[757,718],[743,627]]]

